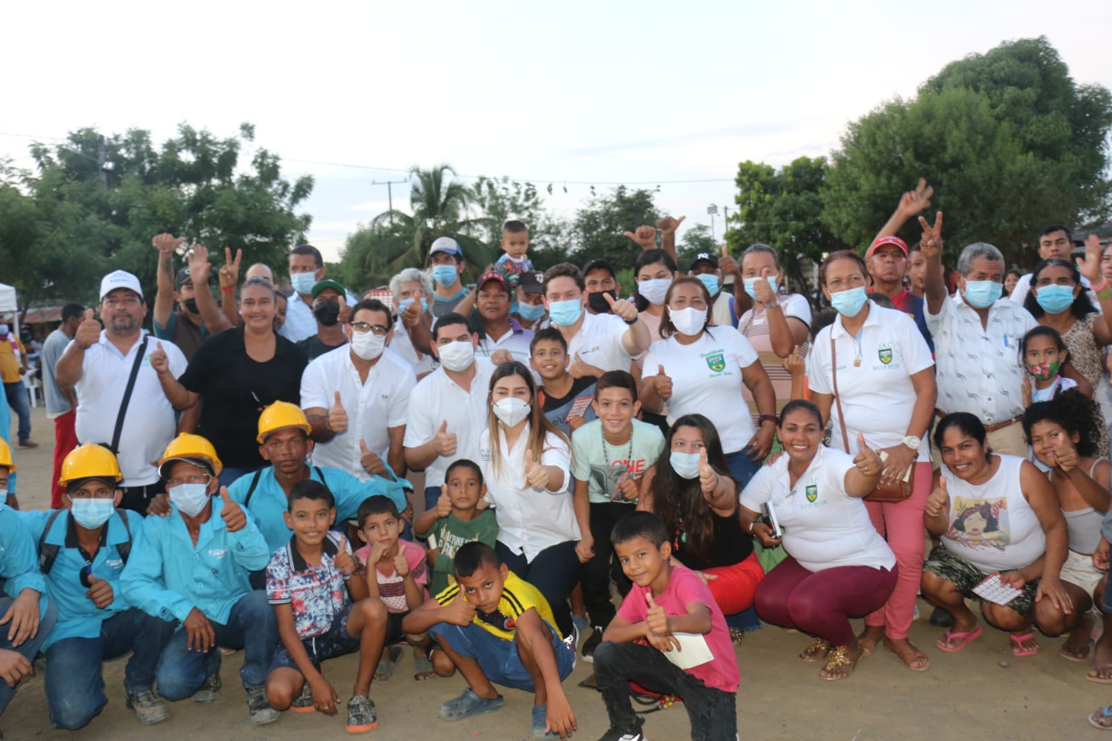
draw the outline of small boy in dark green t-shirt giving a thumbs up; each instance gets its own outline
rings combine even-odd
[[[426,511],[414,523],[416,535],[428,542],[428,561],[433,565],[430,593],[438,594],[455,583],[454,560],[461,545],[479,541],[494,548],[498,522],[494,512],[479,509],[485,493],[479,467],[467,459],[453,461],[445,473],[436,509]]]

